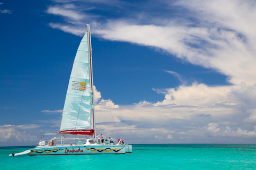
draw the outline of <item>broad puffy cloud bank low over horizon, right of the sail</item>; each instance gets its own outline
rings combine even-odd
[[[246,85],[242,83],[237,86],[207,87],[205,84],[194,83],[177,89],[166,89],[165,100],[158,103],[141,101],[138,104],[112,108],[112,115],[105,107],[98,107],[97,129],[109,135],[115,134],[114,130],[117,129],[127,139],[132,139],[129,142],[143,142],[143,138],[150,137],[150,143],[156,136],[162,143],[255,137],[255,130],[249,130],[255,126],[255,112],[252,109],[255,106],[245,105],[243,95],[237,95],[237,91],[243,94],[245,89],[253,90],[252,86],[244,86]],[[256,103],[256,99],[251,102]],[[111,123],[111,116],[116,122],[116,128]],[[222,140],[227,142],[226,138]],[[228,142],[233,141],[230,139]]]

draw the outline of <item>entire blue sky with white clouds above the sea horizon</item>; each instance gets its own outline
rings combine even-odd
[[[86,24],[97,132],[128,143],[255,143],[255,5],[1,1],[0,145],[59,131]]]

